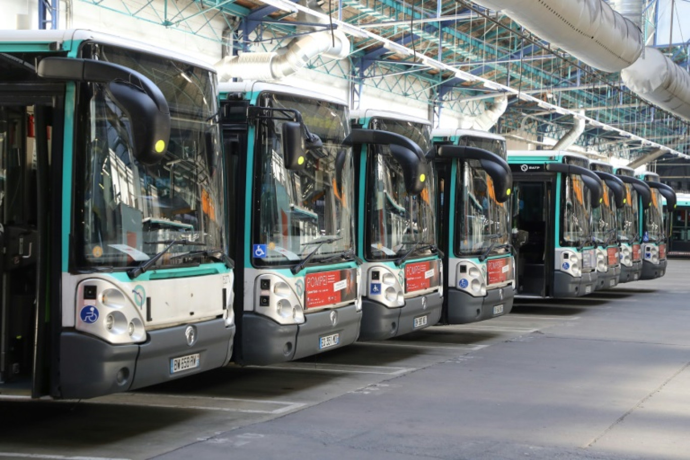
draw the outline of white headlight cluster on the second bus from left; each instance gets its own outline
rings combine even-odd
[[[255,283],[255,311],[279,324],[304,323],[302,301],[292,286],[275,274],[262,274]]]

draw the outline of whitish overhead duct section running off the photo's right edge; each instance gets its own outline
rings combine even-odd
[[[645,101],[690,119],[690,74],[659,50],[645,48],[640,59],[620,76]]]

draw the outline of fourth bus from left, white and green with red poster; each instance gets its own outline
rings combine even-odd
[[[437,225],[448,277],[442,322],[465,324],[507,314],[515,297],[512,186],[503,137],[433,130]]]

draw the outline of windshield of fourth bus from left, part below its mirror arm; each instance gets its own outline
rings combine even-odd
[[[493,181],[477,160],[462,161],[457,168],[455,253],[483,254],[492,245],[509,242],[509,206],[496,201]]]

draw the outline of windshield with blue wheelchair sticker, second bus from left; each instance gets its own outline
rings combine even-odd
[[[254,240],[257,266],[293,266],[316,251],[311,263],[353,248],[354,170],[346,106],[288,94],[264,93],[262,107],[297,110],[322,146],[306,153],[303,170],[284,166],[282,123],[259,119]],[[342,165],[342,166],[341,166]]]

